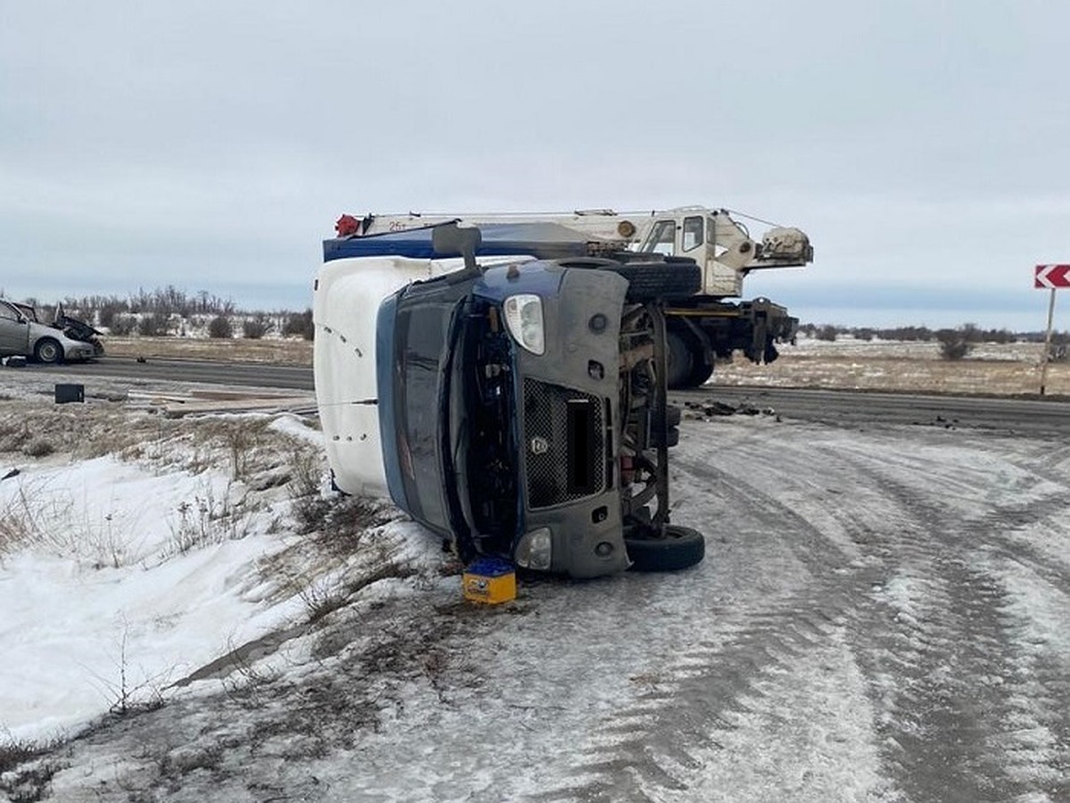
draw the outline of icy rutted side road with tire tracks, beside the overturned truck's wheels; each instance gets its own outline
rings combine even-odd
[[[945,424],[686,420],[698,567],[427,578],[77,740],[54,798],[1070,800],[1070,442]]]

